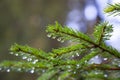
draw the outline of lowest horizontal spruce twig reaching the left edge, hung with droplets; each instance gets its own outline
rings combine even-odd
[[[26,71],[26,70],[42,70],[48,69],[51,65],[46,64],[45,62],[37,62],[33,64],[32,62],[25,61],[4,61],[0,64],[0,67],[4,69],[11,69],[12,71]]]

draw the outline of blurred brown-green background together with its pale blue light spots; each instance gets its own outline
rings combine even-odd
[[[91,34],[93,26],[104,20],[102,9],[108,1],[0,0],[0,61],[18,60],[18,57],[9,54],[9,48],[14,43],[27,44],[47,52],[62,46],[46,36],[46,26],[55,21]],[[35,80],[37,76],[0,72],[0,80]]]

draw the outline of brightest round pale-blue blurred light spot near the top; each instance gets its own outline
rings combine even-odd
[[[88,5],[85,8],[84,14],[87,20],[95,20],[97,17],[97,9],[93,5]]]

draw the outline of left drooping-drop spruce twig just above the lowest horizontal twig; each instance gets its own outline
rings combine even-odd
[[[46,59],[48,60],[47,56],[48,54],[45,53],[42,50],[37,50],[35,48],[31,48],[29,46],[21,46],[18,44],[14,44],[11,46],[10,51],[13,52],[13,54],[18,54],[19,53],[25,53],[25,54],[30,54],[32,56],[35,56],[37,58],[41,58],[41,59]]]

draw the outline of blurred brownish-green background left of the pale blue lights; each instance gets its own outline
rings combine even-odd
[[[46,36],[45,29],[55,21],[65,24],[68,12],[68,0],[0,0],[0,61],[18,60],[9,54],[14,43],[45,51],[59,47],[60,43]],[[37,76],[0,72],[0,80],[35,80]]]

